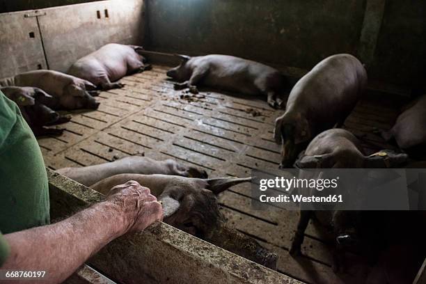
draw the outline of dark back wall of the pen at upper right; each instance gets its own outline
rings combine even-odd
[[[347,52],[370,77],[407,84],[425,63],[426,1],[150,0],[149,49],[232,54],[310,69]],[[424,73],[423,73],[424,74]]]

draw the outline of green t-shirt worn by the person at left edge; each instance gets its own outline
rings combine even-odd
[[[49,223],[49,187],[42,153],[19,108],[1,91],[0,180],[0,232]],[[0,235],[0,262],[5,244]]]

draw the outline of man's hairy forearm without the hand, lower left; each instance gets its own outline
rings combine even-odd
[[[53,225],[5,235],[10,255],[1,269],[46,271],[47,278],[40,280],[59,283],[123,235],[124,219],[117,205],[104,202]]]

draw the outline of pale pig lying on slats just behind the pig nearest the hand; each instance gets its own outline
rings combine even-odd
[[[182,175],[188,178],[207,178],[207,173],[192,166],[184,166],[173,159],[156,161],[148,157],[129,156],[109,163],[93,166],[60,168],[56,172],[89,187],[100,180],[120,173],[145,175]]]

